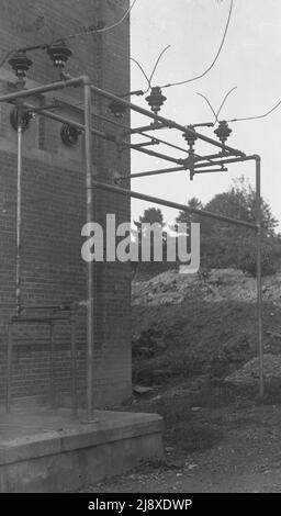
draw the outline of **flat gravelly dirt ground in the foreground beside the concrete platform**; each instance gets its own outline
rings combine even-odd
[[[94,493],[280,493],[281,407],[244,401],[201,408],[194,418],[210,427],[203,449],[166,447],[166,463],[143,464],[85,492]],[[200,433],[198,434],[200,439]]]

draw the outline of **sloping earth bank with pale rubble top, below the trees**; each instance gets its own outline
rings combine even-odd
[[[280,354],[281,276],[263,280],[265,349]],[[133,284],[133,372],[145,385],[223,379],[257,356],[256,280],[167,271]]]

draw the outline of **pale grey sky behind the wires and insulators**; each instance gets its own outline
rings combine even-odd
[[[203,72],[212,63],[224,33],[229,0],[138,0],[131,13],[131,55],[149,75],[159,53],[171,45],[162,57],[153,86],[189,79]],[[280,0],[234,0],[232,20],[225,45],[213,69],[202,79],[184,86],[167,88],[167,101],[160,114],[182,125],[212,122],[213,115],[196,92],[206,96],[218,109],[225,93],[233,87],[221,119],[255,116],[269,111],[281,99],[281,2]],[[132,63],[131,89],[145,89],[146,81]],[[132,100],[147,108],[144,97]],[[132,114],[132,126],[147,123],[147,119]],[[261,193],[269,202],[281,231],[281,105],[270,116],[229,124],[233,134],[228,144],[247,154],[261,156]],[[211,137],[214,128],[202,133]],[[186,145],[180,134],[171,130],[157,131],[159,137]],[[142,138],[134,136],[133,142]],[[142,139],[143,141],[143,139]],[[214,148],[196,144],[199,154]],[[183,157],[168,147],[156,152]],[[168,153],[167,153],[168,152]],[[176,154],[175,154],[176,153]],[[132,173],[169,167],[168,162],[132,153]],[[254,162],[232,165],[227,173],[198,175],[193,181],[188,171],[132,180],[132,190],[186,204],[192,197],[206,202],[216,193],[227,191],[234,178],[244,175],[254,186]],[[149,206],[132,200],[132,216]],[[151,205],[151,204],[150,204]],[[157,206],[156,206],[157,207]],[[175,210],[161,207],[165,220],[175,221]]]

